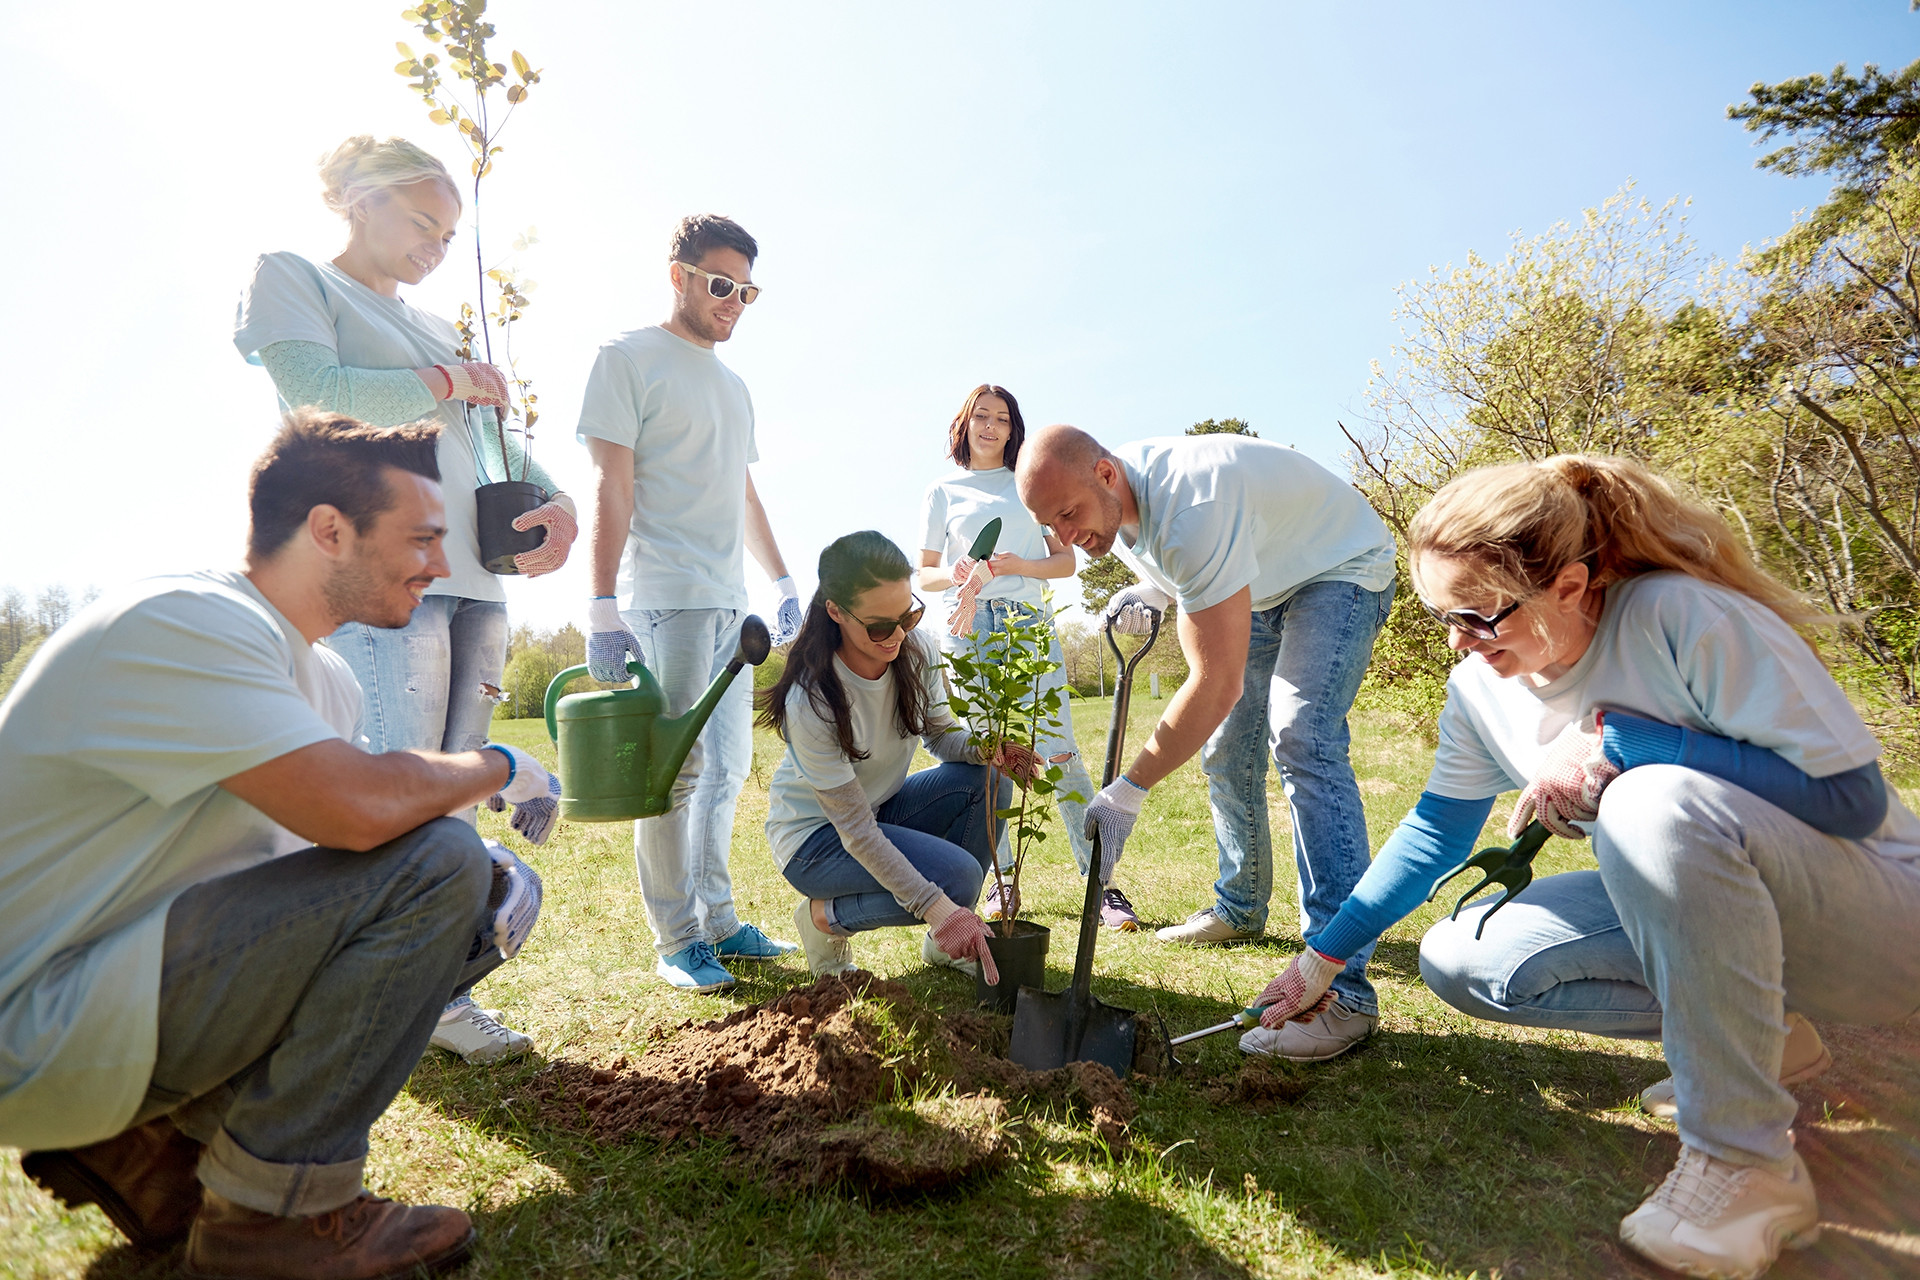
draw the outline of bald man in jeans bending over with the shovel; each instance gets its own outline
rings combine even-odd
[[[1148,789],[1196,750],[1208,775],[1219,881],[1213,906],[1160,931],[1194,946],[1260,936],[1273,894],[1267,743],[1294,819],[1300,933],[1325,929],[1367,869],[1367,819],[1348,762],[1346,714],[1394,601],[1394,537],[1350,484],[1292,449],[1250,436],[1175,436],[1108,451],[1048,426],[1020,451],[1020,501],[1091,557],[1114,551],[1140,578],[1106,616],[1144,631],[1142,604],[1181,604],[1192,677],[1140,754],[1087,806],[1102,877]],[[1281,1031],[1240,1038],[1250,1054],[1319,1061],[1379,1025],[1371,948],[1332,983],[1332,1004]]]

